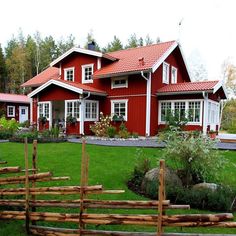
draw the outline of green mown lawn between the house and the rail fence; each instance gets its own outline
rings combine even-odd
[[[29,153],[31,156],[32,145],[29,145]],[[157,165],[158,159],[162,157],[162,149],[145,148],[143,149],[146,156],[151,159],[152,166]],[[135,163],[136,148],[130,147],[103,147],[95,145],[87,145],[87,152],[90,156],[89,163],[89,184],[102,184],[105,189],[124,189],[124,194],[95,196],[102,199],[143,199],[131,192],[126,187],[126,181],[133,170]],[[222,151],[222,158],[228,160],[226,166],[220,173],[222,182],[230,185],[236,184],[236,152]],[[70,181],[40,183],[40,185],[79,185],[80,184],[80,160],[81,145],[72,143],[60,144],[39,144],[38,145],[38,166],[40,172],[52,171],[54,176],[70,176]],[[0,144],[0,160],[8,161],[8,166],[24,166],[24,146],[18,143],[1,143]],[[55,198],[55,197],[53,197]],[[65,197],[63,197],[65,198]],[[68,196],[66,196],[68,198]],[[44,209],[39,209],[44,210]],[[46,211],[55,211],[55,209],[46,209]],[[68,212],[69,210],[56,209],[56,211]],[[76,210],[74,210],[76,212]],[[133,213],[132,210],[102,210],[101,212],[126,212]],[[140,211],[139,211],[140,212]],[[181,213],[186,211],[170,211],[167,213]],[[188,213],[196,213],[198,210],[192,209]],[[141,211],[145,213],[145,211]],[[236,221],[236,219],[235,219]],[[0,221],[1,236],[20,236],[25,235],[20,221]],[[43,224],[43,223],[42,223]],[[50,223],[49,225],[56,225]],[[77,227],[76,225],[60,224],[64,227]],[[128,229],[143,230],[137,227],[118,227],[118,226],[100,226],[99,229]],[[170,232],[196,232],[196,233],[235,233],[236,229],[217,229],[217,228],[186,228],[181,231],[180,228],[165,228]],[[147,231],[155,230],[154,228],[146,228]]]

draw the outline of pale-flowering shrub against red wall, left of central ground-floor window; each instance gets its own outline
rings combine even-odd
[[[99,121],[96,121],[93,125],[90,125],[90,130],[98,137],[107,137],[109,127],[111,127],[111,117],[104,116],[101,112]]]

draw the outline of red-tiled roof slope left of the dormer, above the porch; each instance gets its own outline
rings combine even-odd
[[[21,87],[38,87],[51,79],[58,79],[59,69],[56,67],[48,67],[40,74],[36,75],[32,79],[26,81]]]

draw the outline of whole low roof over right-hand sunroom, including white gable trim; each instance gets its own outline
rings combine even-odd
[[[223,90],[222,99],[227,98],[224,84],[221,81],[202,81],[169,84],[157,90],[157,95],[193,94],[201,92],[216,93],[220,88]]]

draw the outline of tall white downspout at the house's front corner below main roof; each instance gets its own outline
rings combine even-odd
[[[141,76],[147,81],[146,88],[146,127],[145,134],[146,136],[150,136],[150,117],[151,117],[151,72],[149,72],[148,77],[146,77],[141,71]]]

